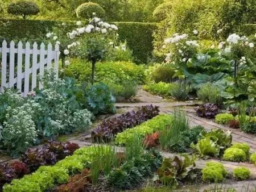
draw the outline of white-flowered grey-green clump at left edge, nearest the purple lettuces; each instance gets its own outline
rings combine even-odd
[[[3,147],[13,156],[26,151],[35,143],[38,136],[33,119],[34,110],[30,104],[7,108],[7,120],[3,122],[1,139]]]

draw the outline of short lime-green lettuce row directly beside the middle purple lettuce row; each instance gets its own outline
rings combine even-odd
[[[153,119],[148,120],[139,126],[118,133],[115,137],[115,143],[118,145],[126,145],[133,140],[134,136],[143,138],[144,136],[156,131],[162,131],[167,124],[171,123],[171,121],[172,116],[170,115],[161,114],[155,116]]]

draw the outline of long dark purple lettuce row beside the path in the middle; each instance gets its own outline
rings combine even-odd
[[[148,119],[154,118],[159,114],[157,106],[142,106],[138,111],[130,111],[126,114],[105,120],[99,126],[92,131],[92,137],[94,140],[109,141],[113,139],[113,136],[119,132],[138,126],[139,124],[146,122]]]

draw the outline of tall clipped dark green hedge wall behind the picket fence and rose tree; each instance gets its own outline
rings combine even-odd
[[[55,20],[0,20],[0,41],[32,40],[40,41],[46,37],[56,24],[63,21]],[[76,28],[76,22],[65,22],[70,30]],[[146,63],[153,51],[152,33],[156,29],[156,23],[117,22],[119,39],[127,41],[128,47],[133,51],[137,63]],[[68,31],[67,31],[68,32]]]

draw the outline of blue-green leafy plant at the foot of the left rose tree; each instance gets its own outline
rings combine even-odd
[[[86,99],[89,110],[93,114],[115,113],[115,98],[113,97],[109,87],[104,83],[92,85],[86,90]]]

